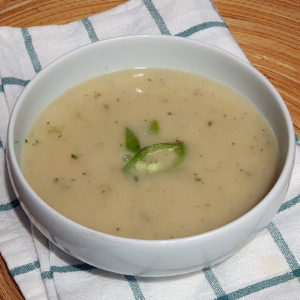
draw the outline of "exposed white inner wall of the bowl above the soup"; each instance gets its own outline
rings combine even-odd
[[[170,55],[172,53],[172,55]],[[160,67],[198,73],[224,83],[247,97],[266,117],[279,144],[280,171],[289,145],[289,115],[271,84],[248,62],[199,42],[140,36],[101,41],[56,60],[34,78],[11,117],[13,140],[24,141],[41,111],[74,85],[122,69]],[[15,143],[21,164],[22,145]]]

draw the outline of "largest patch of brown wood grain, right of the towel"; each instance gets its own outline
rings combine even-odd
[[[300,1],[216,0],[252,64],[277,88],[300,134]]]

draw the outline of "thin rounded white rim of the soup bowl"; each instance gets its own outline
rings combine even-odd
[[[121,43],[128,43],[130,40],[153,40],[153,41],[164,41],[168,43],[168,41],[175,41],[181,44],[184,44],[186,47],[189,47],[190,45],[194,45],[199,48],[206,48],[212,52],[214,52],[218,56],[227,56],[231,60],[235,61],[235,63],[241,65],[243,68],[247,69],[247,72],[253,73],[260,81],[264,83],[266,88],[269,89],[269,91],[272,93],[272,97],[276,99],[277,103],[279,104],[280,110],[282,115],[284,116],[285,125],[288,132],[288,145],[287,145],[287,153],[286,157],[282,166],[282,170],[279,173],[276,182],[272,186],[272,188],[269,190],[269,192],[260,200],[253,208],[251,208],[249,211],[247,211],[242,216],[238,217],[237,219],[223,225],[220,227],[217,227],[213,230],[187,236],[187,237],[180,237],[180,238],[174,238],[174,239],[163,239],[163,240],[147,240],[147,239],[134,239],[129,237],[121,237],[121,236],[115,236],[108,233],[103,233],[100,231],[97,231],[95,229],[86,227],[84,225],[81,225],[55,209],[53,209],[50,205],[48,205],[44,200],[42,200],[41,197],[37,195],[37,193],[31,188],[27,180],[25,179],[22,171],[21,166],[17,162],[15,148],[14,148],[14,139],[13,139],[13,132],[15,127],[15,122],[17,120],[18,115],[21,113],[21,105],[25,101],[27,94],[30,92],[31,88],[38,83],[40,77],[46,76],[48,71],[52,68],[55,68],[56,65],[59,65],[60,63],[63,63],[64,60],[71,58],[72,56],[75,56],[79,53],[85,52],[86,49],[90,49],[93,47],[100,47],[112,42],[121,42]],[[280,147],[280,145],[279,145]],[[229,51],[223,50],[220,47],[212,46],[204,42],[200,42],[193,39],[183,38],[183,37],[177,37],[177,36],[166,36],[166,35],[130,35],[130,36],[120,36],[115,38],[108,38],[101,41],[97,41],[93,44],[88,44],[81,46],[77,49],[71,50],[64,55],[56,58],[53,60],[50,64],[48,64],[46,67],[44,67],[39,73],[37,73],[32,80],[28,83],[28,85],[24,88],[24,90],[19,95],[9,118],[8,123],[8,129],[7,129],[7,141],[6,141],[6,159],[8,164],[8,169],[14,170],[15,176],[18,177],[18,180],[21,182],[23,187],[30,193],[30,197],[35,202],[35,205],[39,205],[41,209],[44,211],[48,211],[53,218],[59,218],[60,221],[70,225],[74,228],[74,231],[84,231],[89,236],[94,236],[99,239],[105,239],[105,240],[111,240],[115,243],[122,243],[122,244],[128,244],[128,245],[139,245],[139,244],[147,244],[147,245],[162,245],[162,244],[178,244],[178,243],[186,243],[188,241],[194,241],[199,239],[206,239],[206,238],[212,238],[213,236],[216,236],[218,234],[223,234],[223,232],[230,231],[231,228],[237,227],[243,222],[246,222],[248,219],[251,219],[251,217],[257,213],[263,206],[267,205],[272,201],[272,199],[279,194],[280,190],[284,186],[284,183],[286,181],[289,181],[290,175],[293,169],[294,164],[294,158],[295,158],[295,135],[294,135],[294,129],[293,129],[293,123],[291,116],[289,114],[289,111],[287,109],[287,106],[283,99],[281,98],[280,94],[277,92],[275,87],[272,85],[272,83],[257,69],[255,69],[248,61],[241,59],[240,57],[232,54]],[[11,172],[9,171],[9,174]],[[11,181],[13,181],[12,176],[10,176]],[[13,184],[14,185],[14,184]],[[20,201],[22,208],[23,203],[22,200]],[[25,205],[26,207],[26,205]]]

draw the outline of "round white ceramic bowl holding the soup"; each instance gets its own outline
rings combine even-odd
[[[33,122],[55,98],[101,74],[136,67],[199,73],[231,86],[265,115],[279,144],[280,176],[251,211],[216,230],[174,240],[120,238],[81,226],[48,206],[20,168],[22,146]],[[36,227],[69,254],[104,270],[137,276],[183,274],[215,264],[243,246],[278,211],[294,162],[294,131],[288,110],[270,82],[250,64],[220,49],[184,38],[130,36],[104,40],[59,58],[24,89],[11,115],[7,160],[22,208]]]

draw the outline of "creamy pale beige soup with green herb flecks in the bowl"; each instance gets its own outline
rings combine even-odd
[[[162,171],[157,162],[174,154],[162,151],[154,170],[134,164],[127,174],[135,153],[126,149],[126,128],[141,148],[184,145],[182,160]],[[242,95],[199,75],[151,68],[70,89],[39,116],[23,153],[26,179],[55,210],[138,239],[197,235],[237,219],[270,190],[277,165],[273,132]]]

